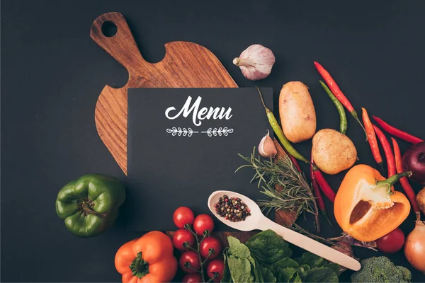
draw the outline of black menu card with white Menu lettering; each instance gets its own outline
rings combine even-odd
[[[273,89],[261,93],[273,109]],[[129,88],[128,230],[175,231],[174,210],[210,213],[215,190],[264,199],[251,168],[234,171],[268,130],[256,88]]]

